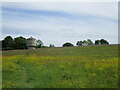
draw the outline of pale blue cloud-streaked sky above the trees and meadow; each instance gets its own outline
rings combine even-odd
[[[2,37],[30,36],[44,45],[106,39],[118,43],[117,2],[3,2]]]

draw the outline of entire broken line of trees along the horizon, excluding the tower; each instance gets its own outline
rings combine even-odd
[[[11,36],[6,36],[2,41],[2,50],[15,50],[15,49],[27,49],[27,39],[25,37],[12,38]],[[105,39],[95,40],[93,43],[90,39],[77,41],[76,46],[87,46],[87,45],[103,45],[109,44]],[[70,42],[66,42],[62,45],[63,47],[74,46]],[[41,40],[36,40],[36,48],[49,48],[55,47],[54,44],[49,44],[49,46],[44,46]]]

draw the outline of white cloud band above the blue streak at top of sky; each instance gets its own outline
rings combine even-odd
[[[117,2],[81,2],[81,3],[3,3],[3,6],[26,10],[61,11],[69,14],[88,14],[98,17],[118,19]]]

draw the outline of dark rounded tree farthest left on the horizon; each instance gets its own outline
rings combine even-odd
[[[6,36],[4,40],[2,40],[2,48],[5,50],[14,49],[14,40],[11,36]]]

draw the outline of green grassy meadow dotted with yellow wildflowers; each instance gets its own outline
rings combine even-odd
[[[3,51],[3,88],[118,88],[118,45]]]

